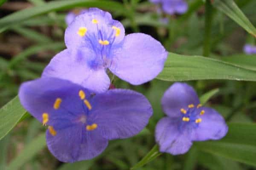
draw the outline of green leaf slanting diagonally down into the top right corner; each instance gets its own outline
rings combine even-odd
[[[236,5],[234,0],[212,0],[212,5],[238,23],[248,33],[256,37],[256,28]]]

